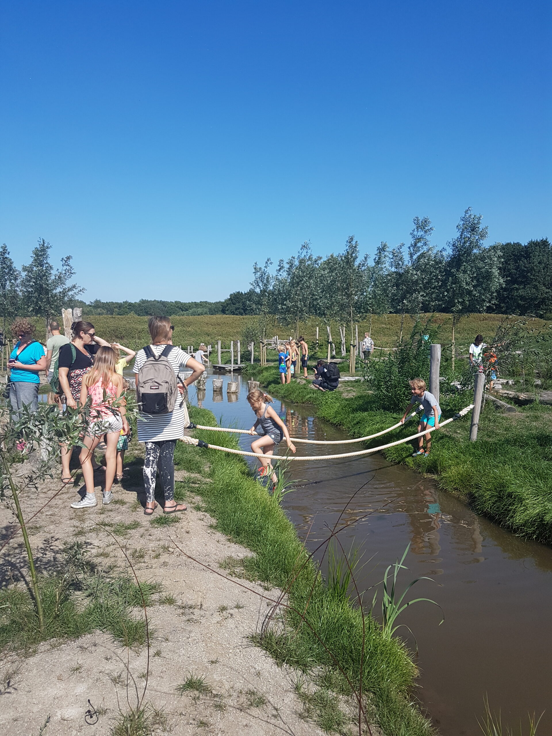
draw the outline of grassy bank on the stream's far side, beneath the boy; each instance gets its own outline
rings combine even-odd
[[[266,390],[294,403],[311,403],[322,419],[343,427],[351,436],[374,434],[397,422],[400,414],[382,411],[378,398],[362,384],[333,393],[315,392],[308,384],[281,386],[272,368],[258,372]],[[470,403],[467,395],[466,403]],[[443,418],[454,411],[442,403]],[[412,434],[413,425],[389,435]],[[435,475],[443,490],[467,498],[473,509],[515,534],[552,544],[552,407],[531,404],[503,414],[487,402],[481,414],[478,441],[469,442],[470,416],[433,434],[429,458],[411,457],[412,445],[384,450],[386,458]],[[372,447],[383,444],[381,438]],[[367,445],[369,446],[369,445]]]

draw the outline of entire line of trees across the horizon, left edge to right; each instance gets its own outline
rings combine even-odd
[[[79,299],[71,256],[55,269],[51,246],[43,238],[30,262],[15,268],[4,244],[0,248],[0,316],[41,317],[48,322],[65,307],[82,307],[83,314],[194,316],[233,314],[277,317],[295,325],[311,316],[342,325],[369,314],[453,314],[454,329],[464,314],[496,312],[552,319],[552,245],[548,238],[526,244],[486,244],[482,216],[465,210],[456,237],[445,247],[431,242],[434,227],[428,217],[415,217],[408,243],[389,247],[381,242],[375,256],[362,255],[354,236],[344,249],[326,258],[314,255],[305,242],[297,255],[277,264],[267,258],[255,263],[249,291],[234,291],[224,301],[180,302],[139,300],[105,302]],[[401,330],[402,332],[402,330]]]

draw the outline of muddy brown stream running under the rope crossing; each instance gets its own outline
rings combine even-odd
[[[210,380],[202,406],[222,426],[233,422],[250,428],[247,382],[240,380],[240,392],[229,402],[226,379],[218,396],[213,396]],[[197,403],[194,389],[190,398]],[[308,406],[275,401],[275,408],[291,436],[344,439],[342,431],[314,417]],[[241,436],[240,442],[250,450],[250,438]],[[347,445],[339,450],[301,445],[297,453],[336,451],[346,452]],[[309,548],[327,536],[327,525],[333,526],[350,496],[364,485],[343,519],[372,514],[340,535],[344,548],[356,545],[363,553],[365,565],[357,573],[361,590],[377,584],[408,543],[409,570],[401,573],[400,590],[415,577],[433,578],[418,583],[411,597],[439,603],[445,622],[439,626],[436,606],[420,603],[400,623],[416,637],[421,672],[417,696],[442,735],[479,733],[476,717],[484,712],[486,695],[492,709],[501,711],[503,724],[519,729],[521,719],[524,733],[527,712],[540,715],[546,710],[539,734],[552,734],[552,550],[514,537],[439,492],[431,480],[378,454],[350,461],[294,462],[291,472],[297,489],[286,495],[283,506],[300,536],[308,534]],[[401,631],[414,650],[414,638],[407,629]]]

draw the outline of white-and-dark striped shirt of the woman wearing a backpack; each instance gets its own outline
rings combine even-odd
[[[166,348],[166,345],[150,345],[155,355],[160,355]],[[185,364],[190,360],[191,355],[185,353],[180,347],[173,347],[169,355],[169,363],[174,369],[174,375],[178,378]],[[146,362],[146,353],[144,348],[138,350],[134,361],[133,371],[138,373]],[[165,439],[180,439],[184,434],[185,427],[190,423],[188,419],[188,409],[184,402],[180,407],[182,397],[178,394],[177,403],[174,411],[168,414],[140,414],[138,417],[138,442],[163,442]]]

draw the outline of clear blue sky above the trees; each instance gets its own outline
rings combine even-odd
[[[255,260],[551,236],[551,3],[2,0],[0,241],[86,300],[216,300]]]

